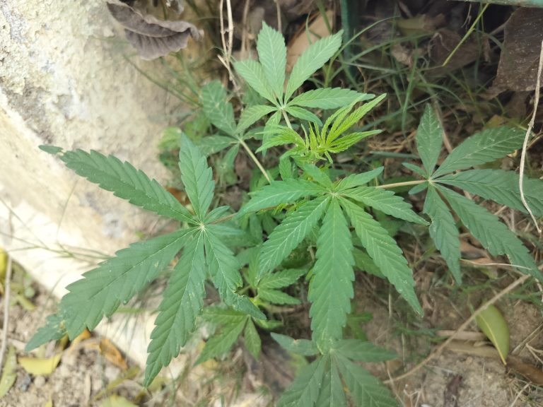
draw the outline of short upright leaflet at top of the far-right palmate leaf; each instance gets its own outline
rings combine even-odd
[[[426,177],[431,175],[438,163],[443,146],[443,128],[431,105],[426,105],[419,128],[416,130],[416,149],[426,169]]]

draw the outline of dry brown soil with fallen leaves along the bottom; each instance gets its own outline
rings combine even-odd
[[[405,330],[400,334],[402,330],[398,329],[398,321],[401,319],[397,315],[392,319],[389,317],[387,305],[374,293],[368,292],[370,285],[367,283],[358,279],[356,285],[356,295],[361,299],[358,311],[363,309],[373,314],[373,320],[363,324],[363,329],[370,341],[393,349],[400,355],[398,360],[387,365],[366,366],[373,374],[385,380],[401,374],[407,370],[405,367],[414,365],[436,346],[428,341],[431,336],[417,336],[416,329],[411,334]],[[10,310],[8,343],[16,348],[18,357],[25,355],[25,342],[42,324],[45,316],[54,310],[52,299],[47,293],[43,293],[39,287],[35,289],[37,295],[33,302],[36,309],[33,312],[23,309],[21,305],[13,305]],[[427,319],[419,323],[436,329],[455,329],[455,326],[469,317],[469,309],[467,306],[458,307],[460,302],[455,301],[457,298],[452,298],[453,301],[445,300],[439,291],[428,290],[428,302],[436,307],[437,312],[428,312]],[[537,355],[543,349],[543,336],[538,334],[543,325],[541,310],[528,302],[512,299],[504,300],[499,306],[505,310],[505,317],[510,324],[512,353],[540,369]],[[298,315],[302,322],[303,314],[301,310]],[[421,331],[428,326],[421,325]],[[477,326],[469,330],[477,331]],[[294,376],[295,361],[274,341],[264,338],[263,355],[259,362],[238,348],[225,361],[205,366],[208,374],[201,377],[200,383],[190,386],[197,390],[192,389],[189,394],[177,391],[176,396],[172,397],[166,380],[165,386],[158,386],[152,393],[148,393],[142,390],[139,367],[126,358],[117,360],[116,365],[111,358],[105,358],[105,354],[100,352],[99,342],[100,338],[91,337],[75,346],[69,345],[64,350],[59,366],[47,376],[33,376],[18,366],[16,382],[8,394],[0,399],[0,407],[46,406],[49,400],[54,407],[116,406],[115,402],[107,403],[107,397],[112,395],[122,396],[136,406],[192,406],[195,403],[199,406],[218,406],[220,396],[226,396],[224,406],[272,406],[274,403],[270,401],[271,397],[281,394]],[[508,371],[499,359],[481,357],[477,355],[477,347],[474,349],[468,353],[445,350],[419,372],[395,382],[392,389],[406,407],[543,405],[543,391],[539,387]],[[51,355],[53,350],[52,346],[47,346],[45,356]],[[121,368],[119,362],[126,362],[127,365]],[[119,380],[127,375],[131,378]],[[120,383],[115,385],[115,382]],[[180,382],[175,384],[177,390],[184,388]],[[235,387],[232,387],[233,384]],[[257,401],[252,396],[255,393],[259,394]]]

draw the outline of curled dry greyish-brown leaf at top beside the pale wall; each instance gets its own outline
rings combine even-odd
[[[108,2],[107,8],[124,27],[127,40],[141,59],[156,59],[187,47],[189,37],[199,40],[204,33],[183,20],[159,20],[151,14],[142,14],[127,4]]]

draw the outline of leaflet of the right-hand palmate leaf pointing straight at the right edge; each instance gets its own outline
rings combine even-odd
[[[527,213],[520,199],[518,181],[516,172],[504,170],[467,170],[436,179],[441,184],[464,189],[481,198]],[[543,181],[526,177],[524,196],[534,215],[543,216]]]

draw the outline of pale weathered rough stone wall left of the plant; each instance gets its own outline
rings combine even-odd
[[[103,0],[0,0],[0,247],[57,297],[157,222],[37,148],[96,149],[165,179],[156,143],[175,100],[119,31]],[[123,341],[143,362],[145,338]]]

